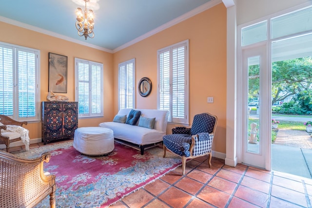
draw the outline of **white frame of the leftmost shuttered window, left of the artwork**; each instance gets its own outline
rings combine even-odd
[[[9,43],[5,43],[5,42],[0,42],[0,47],[1,48],[8,48],[10,50],[12,50],[12,70],[13,70],[13,113],[11,114],[6,114],[5,112],[0,112],[0,114],[5,114],[11,118],[13,118],[14,120],[17,121],[28,121],[28,122],[39,122],[40,121],[40,51],[37,49],[33,49],[33,48],[27,48],[27,47],[23,47],[23,46],[19,46],[19,45],[14,45],[14,44],[9,44]],[[18,56],[18,52],[26,52],[26,53],[30,53],[30,54],[34,54],[35,55],[35,61],[34,61],[34,65],[35,65],[35,72],[34,72],[34,92],[35,92],[35,98],[33,99],[35,101],[35,115],[34,116],[20,116],[19,115],[19,56]],[[0,57],[3,58],[3,57]],[[2,59],[4,60],[4,59]],[[28,60],[27,60],[28,61]],[[28,62],[26,63],[28,64]],[[31,67],[31,66],[29,66]],[[26,69],[26,73],[29,72],[29,68],[27,67]],[[24,72],[25,73],[25,72]],[[3,79],[2,75],[0,75],[0,78]],[[27,80],[29,80],[27,78]],[[29,86],[26,83],[26,88],[27,89],[23,89],[23,91],[28,94],[29,91]],[[1,87],[1,86],[0,86]],[[2,86],[3,87],[3,86]],[[3,95],[0,95],[3,97]],[[4,100],[3,100],[4,101]],[[1,104],[0,104],[1,105]],[[27,110],[26,110],[27,112]],[[27,114],[27,113],[26,113]]]

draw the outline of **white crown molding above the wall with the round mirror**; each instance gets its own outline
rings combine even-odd
[[[145,39],[145,38],[151,37],[151,36],[155,35],[156,33],[159,33],[160,31],[163,31],[163,30],[165,30],[165,29],[167,29],[169,27],[172,27],[173,25],[176,25],[177,23],[180,23],[181,21],[189,19],[189,18],[191,18],[191,17],[193,17],[193,16],[195,16],[195,15],[197,15],[197,14],[199,14],[199,13],[201,13],[201,12],[207,10],[207,9],[210,9],[210,8],[214,7],[215,5],[217,5],[219,3],[222,3],[222,0],[210,0],[207,3],[205,3],[205,4],[199,6],[199,7],[195,8],[195,9],[185,13],[184,15],[181,15],[180,17],[178,17],[176,19],[173,19],[173,20],[171,20],[171,21],[161,25],[161,26],[157,27],[154,30],[151,30],[150,32],[145,33],[144,35],[142,35],[142,36],[140,36],[138,38],[135,38],[135,39],[133,39],[133,40],[131,40],[131,41],[129,41],[129,42],[127,42],[127,43],[117,47],[117,48],[115,48],[113,50],[113,53],[116,53],[116,52],[118,52],[118,51],[120,51],[122,49],[125,49],[125,48],[127,48],[127,47],[129,47],[129,46],[131,46],[131,45],[133,45],[133,44],[135,44],[135,43]]]

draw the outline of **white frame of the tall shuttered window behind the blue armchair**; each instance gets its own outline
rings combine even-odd
[[[184,47],[184,116],[177,117],[173,116],[173,50],[176,48]],[[169,95],[169,109],[164,108],[160,104],[160,94],[161,94],[161,64],[160,64],[160,55],[163,53],[169,52],[169,85],[170,89],[167,89],[170,91]],[[159,49],[157,51],[157,109],[158,110],[169,110],[169,118],[168,123],[170,124],[178,124],[178,125],[184,125],[189,126],[189,40],[184,40],[181,42],[178,42],[176,44],[170,45],[168,47]]]

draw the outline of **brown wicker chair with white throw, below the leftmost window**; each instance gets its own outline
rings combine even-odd
[[[6,151],[8,152],[10,149],[10,143],[20,141],[20,135],[15,132],[1,133],[1,129],[6,130],[6,125],[16,125],[16,126],[27,125],[27,121],[22,122],[16,121],[6,115],[0,114],[0,122],[4,124],[4,126],[0,126],[0,144],[1,145],[5,144]]]

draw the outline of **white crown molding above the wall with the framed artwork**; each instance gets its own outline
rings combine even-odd
[[[48,36],[52,36],[54,38],[64,39],[64,40],[67,40],[67,41],[70,41],[70,42],[74,42],[74,43],[77,43],[77,44],[80,44],[80,45],[84,45],[84,46],[87,46],[87,47],[90,47],[90,48],[98,49],[100,51],[113,53],[113,51],[110,50],[110,49],[106,49],[106,48],[102,48],[102,47],[99,47],[99,46],[96,46],[96,45],[92,45],[90,43],[86,43],[86,42],[83,42],[81,40],[77,40],[75,38],[70,38],[68,36],[63,36],[63,35],[60,35],[59,33],[54,33],[54,32],[51,32],[49,30],[45,30],[45,29],[42,29],[42,28],[39,28],[39,27],[35,27],[33,25],[30,25],[30,24],[26,24],[26,23],[23,23],[23,22],[20,22],[20,21],[16,21],[14,19],[9,19],[9,18],[5,18],[5,17],[0,16],[0,21],[8,23],[8,24],[15,25],[15,26],[18,26],[18,27],[22,27],[22,28],[25,28],[25,29],[28,29],[28,30],[32,30],[32,31],[35,31],[35,32],[38,32],[38,33],[42,33],[42,34],[45,34],[45,35],[48,35]]]

